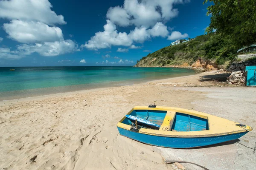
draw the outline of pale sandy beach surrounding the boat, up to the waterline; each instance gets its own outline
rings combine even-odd
[[[211,170],[256,169],[253,133],[247,133],[239,143],[178,150],[136,142],[120,136],[116,128],[134,106],[155,103],[210,113],[255,129],[256,88],[227,86],[218,79],[223,75],[213,71],[0,102],[0,169],[175,168],[163,160],[191,161]],[[198,168],[188,164],[180,167]]]

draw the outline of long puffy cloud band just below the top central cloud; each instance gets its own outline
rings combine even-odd
[[[107,20],[104,31],[95,33],[95,36],[91,37],[81,47],[97,51],[101,48],[111,48],[112,45],[131,46],[134,41],[143,43],[151,37],[165,37],[168,33],[167,27],[163,23],[157,23],[152,29],[136,27],[127,34],[126,32],[118,32],[116,26],[110,20]]]

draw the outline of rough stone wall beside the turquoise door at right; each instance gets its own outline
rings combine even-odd
[[[231,72],[230,77],[227,78],[227,83],[230,85],[245,85],[245,67],[250,65],[256,65],[256,59],[247,60],[245,62],[232,63],[226,70],[228,72]]]

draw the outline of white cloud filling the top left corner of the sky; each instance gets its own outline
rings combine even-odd
[[[49,25],[66,24],[62,15],[51,10],[48,0],[1,0],[0,17],[9,20],[40,21]]]

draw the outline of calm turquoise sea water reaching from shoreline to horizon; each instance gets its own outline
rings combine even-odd
[[[0,67],[0,101],[133,85],[138,82],[191,74],[195,74],[195,71],[186,68]]]

